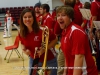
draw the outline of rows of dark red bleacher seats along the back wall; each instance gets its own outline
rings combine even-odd
[[[22,7],[5,7],[0,8],[0,30],[4,29],[4,21],[5,21],[5,14],[7,10],[10,10],[11,16],[13,17],[13,23],[16,25],[19,25],[19,17],[23,9],[25,8],[31,8],[33,9],[33,6],[22,6]]]

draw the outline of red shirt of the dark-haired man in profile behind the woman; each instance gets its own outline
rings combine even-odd
[[[42,19],[42,25],[43,26],[46,25],[46,26],[48,26],[49,29],[53,29],[54,24],[55,24],[55,21],[52,18],[51,14],[47,13],[46,16],[44,16],[43,19]]]

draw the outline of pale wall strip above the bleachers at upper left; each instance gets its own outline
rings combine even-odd
[[[0,0],[2,7],[34,6],[39,0]]]

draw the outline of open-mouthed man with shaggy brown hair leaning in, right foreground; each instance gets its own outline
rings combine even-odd
[[[61,49],[65,56],[65,67],[62,75],[98,75],[88,36],[82,27],[73,22],[73,18],[72,7],[61,6],[57,9],[57,21],[63,29]]]

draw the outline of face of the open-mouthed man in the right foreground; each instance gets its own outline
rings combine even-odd
[[[57,22],[61,29],[65,29],[70,23],[70,18],[62,11],[57,14]]]

